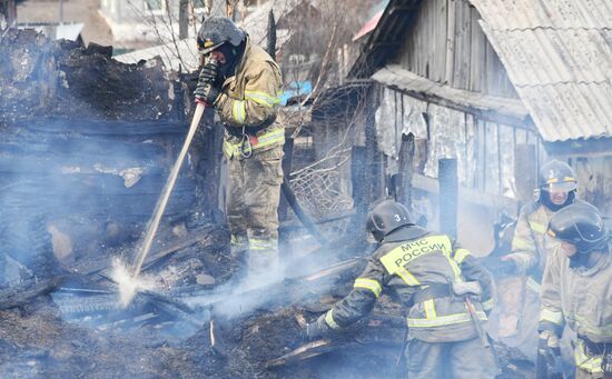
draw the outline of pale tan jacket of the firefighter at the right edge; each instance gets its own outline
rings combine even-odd
[[[578,333],[576,367],[601,372],[601,356],[590,357],[585,343],[612,342],[612,243],[591,268],[570,268],[561,251],[549,258],[542,280],[540,330],[561,336],[565,323]]]

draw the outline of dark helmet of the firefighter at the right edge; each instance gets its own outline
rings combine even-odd
[[[574,245],[580,253],[602,249],[609,240],[608,228],[600,212],[584,202],[570,205],[554,213],[547,233]]]

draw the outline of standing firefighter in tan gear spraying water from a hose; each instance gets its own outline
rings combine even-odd
[[[204,21],[198,49],[206,64],[196,98],[214,107],[225,126],[231,252],[239,261],[248,258],[249,272],[265,272],[278,262],[277,208],[285,143],[285,130],[276,122],[280,70],[225,17]]]

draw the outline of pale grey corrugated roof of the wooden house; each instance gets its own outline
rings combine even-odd
[[[612,137],[612,1],[470,2],[544,140]]]

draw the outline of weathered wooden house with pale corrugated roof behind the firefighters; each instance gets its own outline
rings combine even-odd
[[[537,169],[553,154],[579,169],[581,195],[602,207],[608,198],[594,193],[610,188],[609,16],[603,0],[389,1],[349,73],[372,81],[367,110],[352,122],[356,143],[382,152],[368,162],[373,198],[389,191],[385,178],[409,171],[412,206],[435,221],[438,161],[456,159],[458,236],[482,240],[501,211],[532,199]],[[573,146],[594,138],[599,173],[589,179],[593,167],[582,167]],[[409,166],[403,139],[412,141]]]

